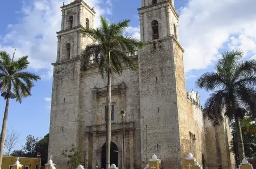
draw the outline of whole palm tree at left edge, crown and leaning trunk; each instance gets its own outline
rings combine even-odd
[[[1,132],[0,169],[3,159],[10,99],[16,99],[17,102],[21,103],[22,98],[31,95],[30,91],[34,86],[33,81],[41,79],[40,76],[24,71],[28,68],[28,64],[28,56],[23,56],[17,61],[14,61],[14,57],[11,59],[6,51],[0,51],[0,90],[1,96],[6,100]]]

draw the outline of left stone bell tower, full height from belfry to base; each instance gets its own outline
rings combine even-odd
[[[81,36],[81,29],[92,28],[95,16],[93,8],[82,0],[61,6],[61,30],[57,32],[57,57],[53,63],[53,92],[50,114],[49,155],[53,155],[58,167],[67,164],[65,151],[72,145],[79,147],[82,140],[80,118],[80,54],[92,43]]]

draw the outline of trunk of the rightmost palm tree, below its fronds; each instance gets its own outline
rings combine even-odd
[[[245,158],[244,142],[242,141],[242,131],[239,116],[235,115],[236,141],[238,144],[239,164]]]

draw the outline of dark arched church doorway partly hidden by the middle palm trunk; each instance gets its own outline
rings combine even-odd
[[[110,144],[110,165],[118,166],[118,148],[114,142]],[[101,148],[101,168],[106,168],[106,143]]]

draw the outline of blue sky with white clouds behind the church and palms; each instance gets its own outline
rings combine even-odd
[[[130,18],[130,28],[126,33],[139,38],[139,0],[85,2],[97,11],[95,26],[100,15],[108,19],[113,16],[113,22]],[[8,128],[15,128],[21,133],[16,148],[24,144],[28,134],[43,137],[49,132],[53,70],[50,63],[56,60],[56,31],[60,30],[62,3],[60,0],[12,0],[1,3],[0,50],[12,55],[16,48],[16,58],[29,55],[29,71],[42,76],[42,80],[35,83],[33,96],[24,99],[22,104],[14,100],[10,102]],[[203,72],[213,70],[213,63],[222,51],[239,47],[244,49],[246,59],[256,57],[254,6],[255,0],[175,1],[175,8],[180,14],[180,42],[185,49],[187,90],[199,91],[201,103],[208,93],[196,89],[195,80]],[[1,99],[1,120],[4,108],[5,100]]]

